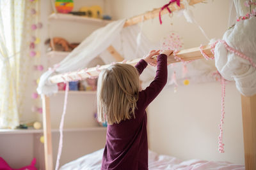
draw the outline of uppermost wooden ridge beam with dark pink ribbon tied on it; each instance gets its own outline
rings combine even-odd
[[[197,3],[203,3],[204,1],[205,0],[191,0],[189,2],[189,5],[193,5],[193,4],[197,4]],[[180,7],[177,6],[176,3],[172,3],[168,7],[170,8],[171,11],[184,9],[184,5],[182,3],[180,3]],[[150,20],[150,19],[159,17],[159,11],[160,10],[161,10],[161,8],[157,8],[157,9],[154,9],[152,11],[147,11],[146,13],[143,13],[141,15],[137,15],[136,17],[129,18],[125,22],[124,27],[128,27],[128,26],[131,26],[131,25],[138,24],[138,23],[142,22],[143,20]],[[161,15],[165,15],[167,13],[169,13],[169,11],[166,10],[166,9],[161,11]]]

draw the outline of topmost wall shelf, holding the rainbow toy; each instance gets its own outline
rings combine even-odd
[[[64,14],[64,13],[52,13],[49,18],[49,20],[63,20],[63,21],[72,21],[72,22],[80,22],[84,24],[95,24],[95,25],[107,25],[111,20],[102,20],[98,18],[90,18],[90,17],[81,17],[77,15],[72,14]]]

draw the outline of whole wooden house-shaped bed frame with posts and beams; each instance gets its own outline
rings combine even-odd
[[[190,5],[196,3],[202,3],[205,0],[191,0]],[[182,4],[180,4],[180,8],[176,4],[170,4],[169,8],[172,11],[180,10],[184,8]],[[148,11],[142,15],[138,15],[136,17],[132,17],[125,22],[124,27],[129,25],[138,24],[143,20],[150,20],[152,18],[158,17],[159,10],[161,8],[157,8],[152,11]],[[163,10],[161,15],[168,13],[168,10]],[[116,61],[120,62],[124,60],[122,56],[116,52],[113,46],[108,47],[108,52],[110,52]],[[207,55],[212,56],[210,46],[204,46],[204,52]],[[183,60],[195,60],[204,58],[200,53],[200,48],[189,48],[186,50],[181,50],[177,53],[177,56],[182,58]],[[134,66],[140,59],[129,60],[126,63]],[[176,60],[168,60],[168,63],[177,62]],[[72,73],[67,74],[57,74],[49,78],[52,83],[60,83],[63,82],[63,77],[65,80],[69,80],[70,77],[73,80],[77,80],[82,78],[83,80],[89,78],[91,76],[98,76],[99,70],[106,69],[109,67],[108,65],[100,66],[100,67],[92,67],[87,69],[87,71],[74,71]],[[88,73],[90,75],[88,75]],[[77,75],[79,74],[79,76]],[[243,115],[243,136],[244,136],[244,159],[245,159],[245,168],[246,169],[256,169],[256,95],[251,97],[245,97],[241,95],[241,104],[242,104],[242,115]],[[49,97],[42,95],[42,107],[43,107],[43,124],[44,124],[44,152],[45,152],[45,169],[52,170],[52,139],[51,139],[51,115],[50,115],[50,103]]]

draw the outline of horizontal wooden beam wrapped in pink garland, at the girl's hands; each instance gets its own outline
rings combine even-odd
[[[203,46],[204,52],[209,55],[210,57],[212,57],[212,53],[211,53],[211,47],[209,45],[207,46]],[[178,52],[176,54],[178,57],[180,57],[183,60],[196,60],[196,59],[202,59],[204,58],[200,52],[200,48],[196,47],[196,48],[189,48],[186,50],[181,50],[180,52]],[[132,66],[135,66],[137,64],[137,62],[139,62],[141,59],[134,59],[134,60],[127,60],[127,64],[131,64]],[[173,59],[173,55],[171,55],[170,57],[168,57],[168,64],[174,63],[174,62],[178,62],[177,60]],[[52,76],[49,78],[49,80],[52,83],[61,83],[63,81],[75,81],[75,80],[84,80],[86,78],[90,78],[90,76],[98,76],[99,75],[99,71],[102,71],[103,69],[108,68],[109,66],[111,66],[111,64],[107,64],[104,66],[100,66],[100,67],[91,67],[88,68],[87,70],[83,69],[81,71],[74,71],[68,74],[57,74],[55,76]]]

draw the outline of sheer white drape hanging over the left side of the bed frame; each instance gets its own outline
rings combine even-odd
[[[42,74],[37,88],[38,94],[49,95],[58,92],[57,85],[48,81],[48,78],[53,74],[83,69],[97,56],[100,56],[106,64],[113,62],[113,57],[106,50],[110,45],[114,46],[124,59],[128,60],[143,57],[143,55],[150,50],[152,45],[145,36],[141,36],[141,45],[138,50],[138,55],[135,56],[138,46],[136,44],[136,38],[138,32],[140,32],[140,28],[137,25],[123,28],[124,23],[125,20],[111,22],[106,25],[106,27],[97,29],[88,36],[88,38],[84,39],[77,48],[60,62],[60,66],[56,68],[55,73],[53,70],[49,70]],[[148,72],[150,72],[150,69]],[[144,77],[147,79],[150,76]]]

